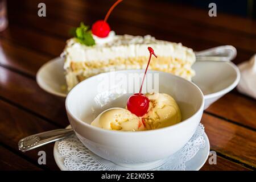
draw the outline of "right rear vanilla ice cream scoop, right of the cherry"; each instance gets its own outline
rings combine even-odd
[[[174,98],[165,93],[147,93],[150,106],[142,120],[147,130],[159,129],[179,123],[181,113]]]

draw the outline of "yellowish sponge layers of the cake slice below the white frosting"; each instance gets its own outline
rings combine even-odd
[[[109,61],[71,62],[71,67],[67,69],[66,75],[68,90],[85,78],[99,73],[125,69],[145,69],[147,61],[148,56],[129,57],[127,59],[118,57]],[[152,57],[148,69],[172,73],[187,80],[191,80],[192,76],[195,75],[191,69],[191,63],[173,57],[159,56],[157,59]]]

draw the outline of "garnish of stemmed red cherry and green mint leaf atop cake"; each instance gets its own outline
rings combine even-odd
[[[80,27],[73,28],[71,30],[72,36],[74,36],[79,43],[84,44],[85,46],[94,46],[96,44],[93,35],[97,36],[98,38],[108,37],[111,28],[107,23],[107,20],[109,18],[109,15],[113,11],[114,7],[122,1],[123,0],[118,0],[114,3],[114,5],[112,5],[112,7],[110,7],[104,20],[97,20],[95,23],[93,23],[92,30],[89,30],[89,26],[85,26],[85,24],[81,22]]]

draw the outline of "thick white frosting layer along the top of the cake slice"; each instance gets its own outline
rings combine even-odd
[[[114,35],[112,32],[107,38],[96,38],[96,45],[85,46],[76,41],[75,38],[67,41],[64,49],[64,68],[67,69],[71,63],[79,61],[108,61],[116,57],[138,57],[148,56],[148,46],[154,48],[158,56],[172,56],[177,59],[188,61],[193,64],[196,60],[193,50],[182,46],[181,43],[172,43],[156,40],[150,35]]]

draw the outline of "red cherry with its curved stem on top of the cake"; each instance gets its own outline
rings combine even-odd
[[[114,9],[115,6],[118,5],[123,0],[118,0],[117,2],[112,5],[106,14],[104,20],[98,20],[97,22],[93,23],[92,26],[92,34],[98,36],[99,38],[106,38],[109,35],[110,27],[109,24],[106,22],[109,18],[110,13]]]

